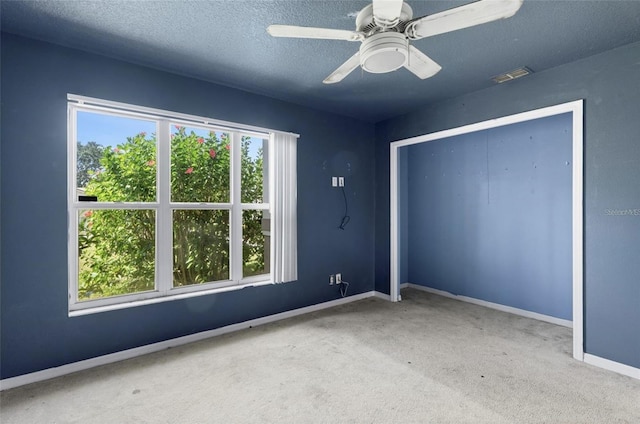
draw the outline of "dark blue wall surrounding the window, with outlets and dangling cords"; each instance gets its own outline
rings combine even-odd
[[[373,288],[372,124],[8,34],[1,83],[1,378],[333,300],[336,272]],[[299,281],[69,318],[67,93],[301,134]]]

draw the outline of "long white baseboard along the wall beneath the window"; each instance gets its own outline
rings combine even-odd
[[[152,343],[145,346],[136,347],[133,349],[127,349],[120,352],[110,353],[108,355],[85,359],[83,361],[61,365],[59,367],[48,368],[42,371],[36,371],[29,374],[19,375],[17,377],[5,378],[3,380],[0,380],[0,391],[12,389],[14,387],[24,386],[25,384],[31,384],[31,383],[37,383],[39,381],[49,380],[55,377],[61,377],[63,375],[87,370],[89,368],[94,368],[101,365],[107,365],[113,362],[119,362],[125,359],[131,359],[137,356],[142,356],[142,355],[146,355],[153,352],[159,352],[161,350],[182,346],[188,343],[197,342],[197,341],[208,339],[211,337],[221,336],[223,334],[232,333],[234,331],[240,331],[247,328],[256,327],[258,325],[280,321],[280,320],[295,317],[298,315],[304,315],[311,312],[320,311],[323,309],[333,308],[338,305],[344,305],[345,303],[351,303],[351,302],[366,299],[369,297],[374,297],[374,296],[379,297],[378,295],[382,295],[382,293],[375,292],[375,291],[368,291],[368,292],[356,294],[353,296],[348,296],[342,299],[331,300],[329,302],[318,303],[316,305],[305,306],[303,308],[293,309],[286,312],[280,312],[278,314],[268,315],[266,317],[239,322],[237,324],[231,324],[231,325],[216,328],[213,330],[202,331],[200,333],[190,334],[188,336],[177,337],[175,339],[165,340],[162,342]]]

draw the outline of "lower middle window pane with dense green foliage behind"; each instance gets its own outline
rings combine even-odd
[[[229,211],[173,211],[173,286],[229,279]]]

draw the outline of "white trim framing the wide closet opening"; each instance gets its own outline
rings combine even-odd
[[[468,134],[489,128],[501,127],[518,122],[531,121],[563,113],[572,113],[573,127],[573,164],[572,164],[572,236],[573,236],[573,357],[584,361],[584,276],[583,276],[583,100],[549,106],[528,112],[517,113],[501,118],[475,124],[464,125],[431,134],[420,135],[391,142],[390,144],[390,200],[391,200],[391,258],[390,258],[390,297],[392,302],[397,302],[400,297],[400,248],[399,248],[399,220],[400,209],[398,196],[399,163],[398,149],[412,144],[425,143],[446,137]]]

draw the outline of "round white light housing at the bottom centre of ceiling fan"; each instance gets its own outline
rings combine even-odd
[[[409,44],[404,34],[380,32],[360,45],[360,66],[367,72],[382,74],[407,63]]]

